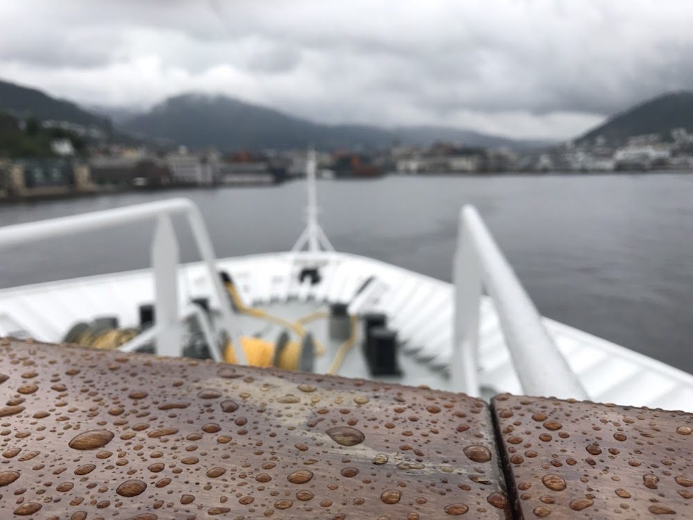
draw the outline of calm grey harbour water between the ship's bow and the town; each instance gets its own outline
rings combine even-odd
[[[693,175],[384,177],[319,182],[335,248],[450,280],[459,207],[480,210],[544,315],[693,372]],[[219,257],[287,250],[304,182],[0,206],[0,224],[173,196],[202,209]],[[182,259],[197,259],[177,223]],[[148,266],[152,226],[1,252],[0,287]]]

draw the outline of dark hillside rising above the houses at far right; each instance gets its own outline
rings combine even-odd
[[[674,128],[693,132],[693,92],[670,92],[635,105],[612,116],[576,141],[592,141],[601,135],[608,144],[619,145],[628,137],[642,134],[660,134],[669,140],[669,132]]]

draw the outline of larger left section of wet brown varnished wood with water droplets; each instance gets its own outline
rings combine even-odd
[[[509,518],[489,408],[0,341],[0,518]]]

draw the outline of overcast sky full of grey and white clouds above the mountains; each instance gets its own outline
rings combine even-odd
[[[693,88],[691,20],[690,0],[7,0],[0,78],[85,105],[220,92],[563,139]]]

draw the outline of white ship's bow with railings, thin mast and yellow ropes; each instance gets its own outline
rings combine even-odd
[[[480,397],[693,410],[691,374],[538,315],[473,207],[460,211],[452,284],[335,251],[317,218],[316,166],[311,153],[306,229],[287,252],[217,259],[199,209],[182,198],[1,227],[0,248],[11,254],[12,244],[157,222],[150,269],[0,291],[0,336]],[[174,215],[187,219],[202,261],[179,263]]]

